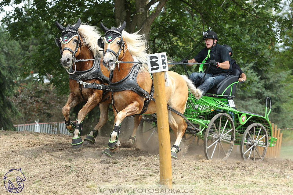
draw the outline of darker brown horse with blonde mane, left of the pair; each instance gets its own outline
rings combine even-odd
[[[95,142],[94,138],[97,136],[98,131],[108,120],[110,99],[106,99],[109,95],[105,95],[104,93],[103,96],[102,90],[84,88],[83,85],[79,85],[79,83],[77,83],[75,80],[76,77],[80,77],[81,80],[85,78],[82,81],[87,83],[105,84],[105,80],[102,81],[102,79],[97,78],[97,72],[95,72],[97,68],[99,68],[98,65],[101,60],[99,61],[99,59],[96,59],[98,60],[96,62],[94,60],[74,62],[75,59],[94,59],[103,55],[101,51],[99,51],[101,48],[99,48],[97,45],[97,40],[101,35],[95,27],[84,24],[81,25],[80,19],[78,19],[78,22],[75,24],[75,26],[68,25],[65,28],[57,21],[56,26],[61,31],[60,39],[56,38],[56,44],[61,49],[61,64],[66,69],[71,68],[74,65],[74,68],[71,69],[70,72],[67,71],[70,74],[70,93],[66,105],[62,108],[62,113],[64,115],[67,130],[74,135],[71,143],[72,148],[77,149],[81,147],[81,144],[83,143],[83,140],[80,138],[82,122],[85,118],[85,115],[89,111],[101,103],[99,104],[101,112],[99,122],[85,138],[85,144],[93,144]],[[110,71],[108,71],[104,66],[100,66],[100,70],[101,71],[99,73],[101,74],[101,77],[103,77],[103,75],[105,78],[109,77]],[[86,104],[78,112],[78,122],[75,125],[70,120],[69,111],[71,108],[78,105],[82,101],[86,101]]]

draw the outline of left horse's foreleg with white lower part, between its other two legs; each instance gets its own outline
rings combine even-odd
[[[83,119],[85,119],[85,115],[91,111],[93,108],[96,107],[96,105],[98,105],[97,101],[97,96],[96,95],[92,95],[88,101],[86,102],[86,104],[81,108],[81,110],[78,112],[77,115],[77,124],[74,130],[74,137],[72,138],[72,148],[73,149],[77,149],[79,147],[81,147],[81,144],[83,142],[83,140],[81,139],[81,131],[82,131],[82,122]]]

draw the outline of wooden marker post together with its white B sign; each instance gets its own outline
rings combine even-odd
[[[147,65],[149,67],[149,72],[153,73],[154,80],[157,125],[159,134],[160,185],[172,188],[170,132],[165,92],[165,86],[168,86],[168,64],[166,53],[164,52],[148,55]]]

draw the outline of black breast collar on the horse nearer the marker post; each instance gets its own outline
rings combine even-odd
[[[124,90],[132,90],[140,96],[143,96],[144,98],[149,98],[149,92],[139,87],[139,85],[137,84],[136,78],[139,69],[140,67],[137,64],[135,64],[134,66],[132,66],[132,69],[130,70],[128,75],[125,76],[125,78],[114,83],[110,82],[113,78],[113,71],[111,71],[109,81],[110,91],[117,92]]]

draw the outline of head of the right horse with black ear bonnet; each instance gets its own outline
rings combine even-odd
[[[125,21],[120,28],[112,27],[111,29],[101,23],[105,34],[98,39],[98,46],[103,48],[103,65],[109,70],[114,70],[116,61],[123,55],[121,51],[124,49],[125,42],[123,41],[122,30],[125,26]]]

